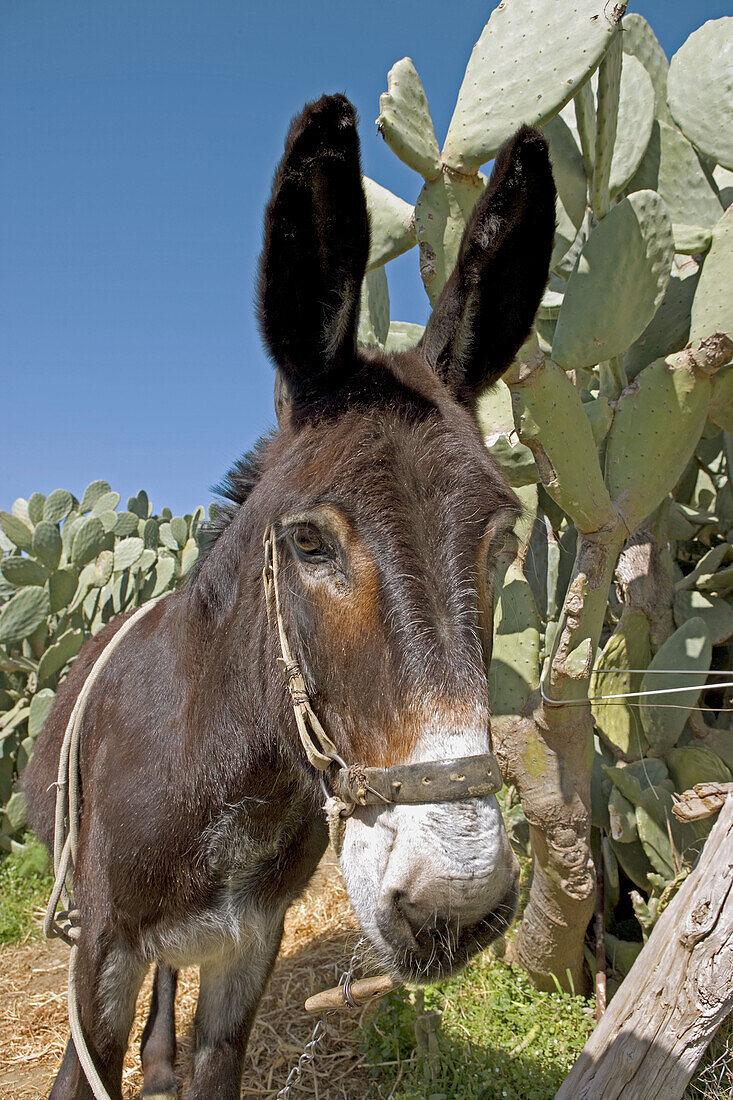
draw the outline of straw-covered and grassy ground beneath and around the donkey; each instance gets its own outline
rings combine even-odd
[[[46,943],[41,904],[50,879],[37,842],[0,862],[0,1100],[48,1093],[68,1034],[67,948]],[[525,871],[528,861],[525,861]],[[526,890],[526,873],[523,875]],[[24,939],[18,944],[19,935]],[[330,854],[289,910],[277,965],[254,1024],[242,1097],[274,1100],[314,1026],[303,1005],[335,986],[358,939],[357,923]],[[151,980],[139,1000],[124,1067],[124,1100],[142,1084],[138,1049]],[[184,971],[177,1000],[178,1076],[190,1053],[197,992]],[[593,1025],[593,1003],[533,989],[491,949],[459,978],[424,993],[401,990],[362,1013],[328,1020],[315,1063],[295,1098],[313,1100],[551,1100]],[[733,1097],[733,1022],[715,1037],[685,1100]]]

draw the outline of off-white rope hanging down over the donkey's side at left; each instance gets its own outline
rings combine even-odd
[[[110,1100],[110,1096],[97,1072],[89,1048],[87,1047],[79,1018],[79,1004],[76,996],[76,964],[78,956],[78,939],[80,934],[79,911],[72,909],[69,886],[73,890],[74,866],[79,837],[79,738],[81,723],[89,693],[101,671],[122,639],[140,619],[155,606],[157,600],[151,600],[144,607],[139,607],[117,634],[107,642],[101,653],[91,666],[84,686],[76,697],[74,708],[66,724],[64,741],[58,758],[58,776],[56,779],[56,814],[54,823],[54,886],[43,921],[43,931],[50,938],[58,936],[70,944],[68,959],[68,1022],[72,1028],[74,1048],[95,1094],[95,1100]],[[70,880],[67,886],[67,879]],[[64,909],[58,911],[58,903]]]

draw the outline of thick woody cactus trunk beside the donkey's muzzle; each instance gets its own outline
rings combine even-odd
[[[549,698],[521,718],[496,719],[494,750],[529,823],[529,900],[511,956],[540,989],[556,980],[588,991],[583,941],[593,916],[590,848],[593,721],[588,682],[619,550],[620,527],[583,535],[546,675]]]

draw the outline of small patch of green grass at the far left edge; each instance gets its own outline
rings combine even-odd
[[[0,857],[0,945],[43,936],[33,911],[45,906],[51,887],[46,849],[30,834],[22,851]]]

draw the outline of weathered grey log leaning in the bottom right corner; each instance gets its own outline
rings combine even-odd
[[[733,798],[555,1100],[679,1100],[733,1009]]]

